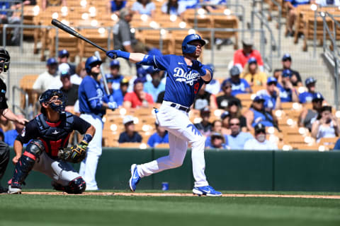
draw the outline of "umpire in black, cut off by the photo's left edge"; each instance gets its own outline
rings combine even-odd
[[[0,49],[0,114],[3,115],[6,119],[11,121],[16,121],[19,124],[24,125],[28,122],[27,119],[19,119],[16,117],[10,109],[8,109],[7,101],[6,101],[6,84],[2,81],[3,76],[6,75],[9,69],[11,57],[9,57],[9,53],[6,49]],[[8,165],[9,160],[9,148],[6,143],[0,141],[0,181],[1,178],[4,176],[6,167]],[[0,193],[7,193],[7,189],[1,186],[0,184]]]

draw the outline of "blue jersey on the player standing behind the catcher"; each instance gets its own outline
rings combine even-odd
[[[85,76],[81,81],[79,90],[79,110],[81,113],[99,114],[103,116],[106,113],[105,109],[93,109],[91,107],[91,100],[98,100],[99,102],[108,102],[108,97],[105,95],[101,85],[96,82],[91,76]]]

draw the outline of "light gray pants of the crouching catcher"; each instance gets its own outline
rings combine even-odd
[[[52,160],[45,152],[40,155],[40,159],[35,160],[33,170],[46,174],[62,186],[67,186],[73,179],[80,177],[69,163]]]

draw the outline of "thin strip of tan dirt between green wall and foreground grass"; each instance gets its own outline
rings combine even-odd
[[[23,195],[55,195],[55,196],[191,196],[188,193],[128,193],[128,192],[85,192],[83,194],[67,194],[63,192],[24,191]],[[289,195],[289,194],[223,194],[222,197],[269,197],[269,198],[330,198],[340,199],[340,196],[322,195]]]

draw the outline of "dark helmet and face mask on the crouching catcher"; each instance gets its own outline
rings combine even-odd
[[[66,97],[60,90],[46,90],[42,93],[42,95],[40,95],[39,102],[40,105],[42,105],[42,103],[47,103],[47,105],[50,105],[52,110],[60,114],[65,111]],[[44,113],[44,110],[45,109],[42,107],[41,112]]]

